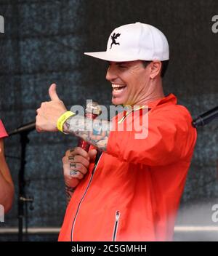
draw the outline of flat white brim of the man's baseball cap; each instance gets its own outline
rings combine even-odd
[[[97,57],[97,59],[100,60],[108,60],[108,61],[133,61],[138,60],[136,56],[126,56],[126,54],[121,54],[116,52],[116,54],[112,54],[111,52],[84,52],[84,55]]]

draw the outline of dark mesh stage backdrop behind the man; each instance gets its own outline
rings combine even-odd
[[[137,21],[156,26],[169,41],[165,95],[174,93],[193,118],[217,105],[218,33],[211,31],[211,18],[218,15],[216,0],[0,0],[0,15],[5,23],[0,34],[0,117],[7,131],[34,121],[36,109],[49,100],[47,91],[53,82],[69,108],[85,105],[86,99],[110,105],[107,64],[83,53],[105,50],[114,28]],[[61,159],[76,140],[60,133],[36,131],[29,139],[25,190],[34,197],[34,209],[28,209],[28,226],[59,228],[65,212]],[[217,142],[217,121],[198,129],[177,226],[217,225],[211,220],[211,207],[218,204]],[[16,196],[5,223],[0,223],[0,231],[17,227],[20,136],[7,138],[5,145]],[[217,237],[216,232],[203,231],[176,230],[175,234],[175,240]],[[0,235],[3,241],[16,239],[16,234]],[[57,234],[25,239],[49,241],[57,239]]]

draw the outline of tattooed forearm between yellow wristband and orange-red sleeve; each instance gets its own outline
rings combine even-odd
[[[87,119],[72,116],[63,126],[63,132],[71,133],[94,145],[100,151],[106,151],[112,123],[102,119]]]

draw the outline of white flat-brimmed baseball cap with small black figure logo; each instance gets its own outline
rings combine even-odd
[[[153,25],[132,23],[115,28],[108,39],[106,52],[84,52],[101,60],[169,60],[166,36]]]

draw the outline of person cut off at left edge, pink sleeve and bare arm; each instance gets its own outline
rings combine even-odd
[[[4,137],[7,137],[7,132],[0,120],[0,204],[6,213],[12,207],[15,188],[4,157]]]

